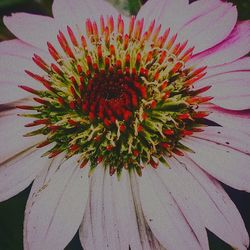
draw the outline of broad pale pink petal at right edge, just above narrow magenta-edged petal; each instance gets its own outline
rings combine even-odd
[[[229,72],[199,81],[199,87],[212,85],[206,95],[213,103],[231,110],[250,108],[250,71]]]

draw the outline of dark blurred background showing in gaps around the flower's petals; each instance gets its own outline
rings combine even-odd
[[[0,0],[0,41],[14,38],[3,25],[2,17],[4,15],[10,15],[13,12],[28,12],[52,16],[52,2],[52,0]],[[125,14],[136,14],[146,0],[109,0],[109,2]],[[250,0],[232,0],[231,2],[237,6],[240,20],[250,19]],[[238,207],[250,233],[250,194],[224,187]],[[22,228],[29,191],[30,187],[14,198],[0,203],[0,250],[23,249]],[[232,250],[210,232],[209,244],[211,250]],[[66,247],[66,250],[81,249],[77,235]]]

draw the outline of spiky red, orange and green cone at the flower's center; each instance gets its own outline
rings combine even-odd
[[[44,75],[26,72],[45,89],[20,86],[40,104],[20,108],[37,111],[26,115],[37,119],[27,126],[44,126],[27,135],[46,135],[38,147],[55,143],[49,157],[78,154],[82,167],[103,162],[111,174],[141,174],[146,164],[182,155],[181,139],[201,131],[208,113],[197,106],[211,98],[199,96],[209,87],[193,90],[206,69],[186,66],[193,48],[177,44],[170,29],[161,33],[155,21],[144,29],[143,19],[131,17],[124,27],[121,16],[101,17],[99,25],[88,19],[79,38],[70,27],[69,39],[59,32],[61,51],[48,43],[55,63],[34,55]]]

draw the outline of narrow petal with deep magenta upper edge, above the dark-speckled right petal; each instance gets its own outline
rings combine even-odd
[[[206,105],[206,110],[212,112],[208,118],[219,125],[250,134],[249,111],[225,110],[215,105]]]

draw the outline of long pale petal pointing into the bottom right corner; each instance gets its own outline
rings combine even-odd
[[[168,162],[171,169],[159,168],[157,172],[184,215],[196,214],[203,230],[206,227],[235,248],[246,249],[248,235],[244,222],[220,184],[186,158]],[[190,223],[190,217],[186,218]]]

